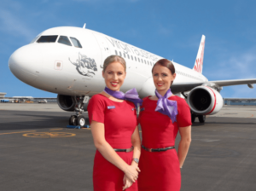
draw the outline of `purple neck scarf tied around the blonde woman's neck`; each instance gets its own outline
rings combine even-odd
[[[133,102],[136,108],[138,107],[138,104],[141,106],[143,103],[143,100],[139,98],[137,90],[135,88],[126,91],[126,93],[123,93],[122,91],[113,91],[110,90],[108,87],[106,87],[104,91],[108,95],[113,96],[117,99]]]

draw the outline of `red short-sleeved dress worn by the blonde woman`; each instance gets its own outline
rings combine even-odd
[[[103,123],[105,139],[112,148],[131,148],[131,135],[137,126],[137,113],[130,101],[117,102],[101,94],[92,96],[88,105],[88,115],[92,120]],[[133,152],[117,152],[131,165]],[[95,191],[121,191],[125,174],[115,165],[108,162],[96,150],[93,166],[93,187]],[[137,191],[137,182],[127,191]]]

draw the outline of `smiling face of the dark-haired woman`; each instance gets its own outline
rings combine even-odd
[[[167,67],[162,67],[159,64],[153,69],[154,86],[158,92],[164,92],[171,87],[172,81],[175,79],[176,73],[172,72]]]

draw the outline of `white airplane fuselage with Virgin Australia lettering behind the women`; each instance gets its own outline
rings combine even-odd
[[[57,35],[55,43],[38,43],[40,36]],[[61,36],[77,38],[82,48],[58,43]],[[40,90],[67,96],[93,96],[105,87],[103,61],[108,55],[121,55],[126,61],[126,78],[121,90],[136,88],[141,97],[154,95],[152,67],[162,57],[100,32],[79,27],[55,27],[17,49],[9,68],[26,84]],[[200,72],[175,62],[177,83],[207,82]]]

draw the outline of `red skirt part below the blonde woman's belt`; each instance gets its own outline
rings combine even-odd
[[[117,152],[119,157],[131,165],[133,152]],[[108,162],[99,151],[96,151],[93,166],[93,188],[94,191],[122,191],[123,178],[125,174],[115,165]],[[127,191],[137,191],[137,182],[133,183]]]

